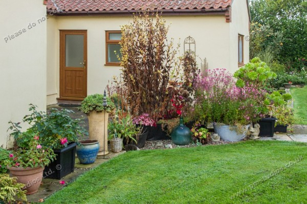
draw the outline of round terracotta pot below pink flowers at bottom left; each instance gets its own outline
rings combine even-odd
[[[11,174],[17,177],[17,182],[25,184],[27,195],[36,193],[42,180],[42,172],[45,167],[38,166],[36,168],[8,167]]]

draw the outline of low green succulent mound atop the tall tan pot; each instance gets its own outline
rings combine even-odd
[[[106,106],[103,106],[103,95],[93,94],[89,95],[81,102],[81,110],[85,114],[91,114],[91,111],[103,111],[112,112],[115,109],[115,105],[109,97],[106,97]]]

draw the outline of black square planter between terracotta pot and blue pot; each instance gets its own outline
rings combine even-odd
[[[61,179],[63,176],[74,172],[77,143],[71,143],[67,147],[55,149],[56,160],[51,162],[43,170],[43,177],[49,179]]]

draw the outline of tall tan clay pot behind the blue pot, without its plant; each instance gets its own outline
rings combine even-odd
[[[107,121],[108,113],[106,111],[92,111],[89,115],[89,132],[91,140],[98,140],[98,156],[107,155]]]

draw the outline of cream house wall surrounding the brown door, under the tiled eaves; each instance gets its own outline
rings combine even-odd
[[[209,68],[229,68],[230,25],[224,15],[165,16],[164,19],[167,24],[171,23],[168,37],[174,38],[175,44],[181,43],[181,54],[184,53],[184,39],[191,36],[196,42],[196,55],[201,58],[206,57]],[[102,93],[113,75],[120,74],[120,67],[104,66],[105,31],[120,30],[120,25],[129,21],[129,17],[106,16],[58,16],[48,19],[48,74],[50,74],[48,78],[50,79],[47,90],[50,103],[59,97],[59,30],[87,30],[87,95],[90,95]],[[57,91],[54,91],[54,87]]]

